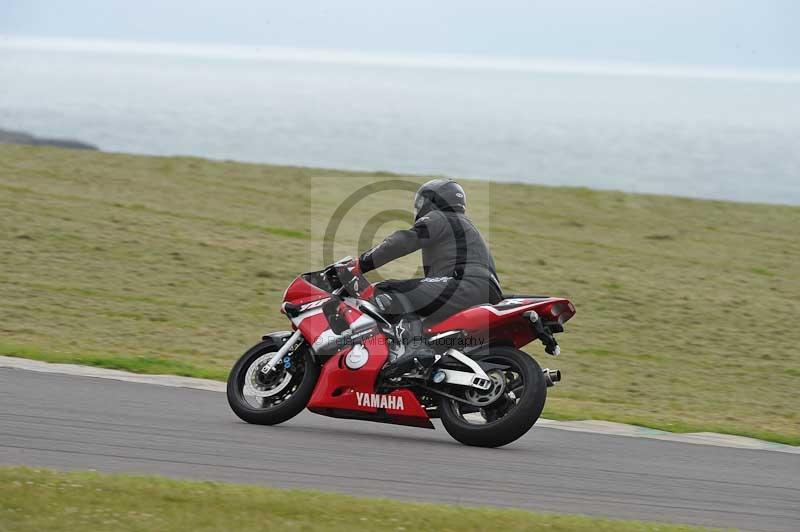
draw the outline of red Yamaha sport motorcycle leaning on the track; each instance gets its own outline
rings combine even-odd
[[[430,367],[384,378],[381,368],[409,348],[402,331],[370,302],[373,286],[349,258],[304,273],[283,296],[292,330],[267,334],[234,365],[228,402],[248,423],[275,425],[304,408],[325,416],[434,428],[466,445],[499,447],[536,423],[561,372],[541,369],[520,348],[536,339],[559,354],[555,333],[575,315],[563,298],[507,296],[434,324],[424,339]]]

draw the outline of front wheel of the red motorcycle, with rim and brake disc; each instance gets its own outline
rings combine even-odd
[[[287,354],[269,374],[261,371],[279,348],[272,340],[254,345],[228,376],[228,404],[248,423],[283,423],[302,412],[314,392],[319,366],[305,344]]]

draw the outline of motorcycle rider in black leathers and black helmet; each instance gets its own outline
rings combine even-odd
[[[398,377],[414,365],[427,367],[434,353],[422,341],[422,318],[441,321],[468,307],[503,299],[494,259],[486,242],[466,216],[466,194],[453,179],[433,179],[414,197],[414,225],[386,237],[364,252],[355,268],[367,273],[422,250],[425,277],[387,280],[375,285],[373,300],[398,323],[402,354],[383,369]]]

